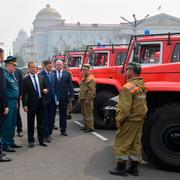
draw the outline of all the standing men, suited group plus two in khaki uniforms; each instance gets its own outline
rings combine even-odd
[[[0,49],[1,63],[4,51]],[[34,121],[37,120],[39,145],[46,147],[52,141],[56,109],[59,109],[60,134],[67,136],[66,120],[72,118],[71,108],[74,91],[71,73],[66,63],[57,60],[54,64],[43,61],[43,69],[38,72],[34,61],[28,63],[29,73],[19,80],[15,76],[16,57],[8,56],[4,60],[5,68],[0,67],[0,162],[11,161],[5,152],[16,152],[21,148],[14,140],[15,127],[18,122],[20,99],[27,113],[27,131],[29,147],[34,147]],[[84,132],[94,131],[93,104],[96,96],[96,82],[90,74],[90,65],[82,67],[83,78],[80,83],[79,102],[83,115]],[[141,161],[142,127],[147,113],[146,87],[140,77],[141,66],[129,63],[126,69],[126,84],[119,95],[116,111],[114,151],[116,167],[110,174],[126,176],[130,173],[138,176],[138,164]],[[68,108],[70,107],[70,108]],[[68,113],[70,112],[70,113]],[[22,136],[22,123],[17,131]],[[130,160],[130,161],[129,161]],[[130,162],[128,169],[127,162]]]

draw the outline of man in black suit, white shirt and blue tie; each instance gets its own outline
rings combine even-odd
[[[34,120],[37,119],[38,140],[41,146],[47,146],[43,142],[43,110],[44,96],[48,93],[44,77],[37,74],[37,65],[31,61],[28,63],[29,75],[22,81],[22,104],[27,112],[28,142],[29,147],[34,147]]]

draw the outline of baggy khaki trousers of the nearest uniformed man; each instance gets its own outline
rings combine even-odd
[[[133,161],[140,161],[141,157],[141,136],[143,121],[125,121],[116,132],[114,152],[118,161],[131,158]]]

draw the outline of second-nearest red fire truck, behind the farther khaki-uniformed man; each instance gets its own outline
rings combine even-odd
[[[122,66],[127,52],[127,45],[124,44],[106,44],[106,45],[89,45],[84,53],[84,59],[82,64],[89,63],[91,65],[92,74],[97,82],[97,95],[96,100],[99,101],[99,96],[101,98],[102,92],[104,92],[104,86],[112,78],[116,78],[115,69],[117,66]],[[71,68],[72,81],[75,90],[75,103],[74,112],[79,112],[80,106],[77,100],[79,95],[79,83],[82,79],[81,68]],[[75,73],[76,72],[76,73]],[[109,91],[110,92],[110,91]],[[107,94],[106,94],[107,95]],[[107,96],[103,97],[103,101],[107,101],[114,94],[110,92]],[[95,100],[95,101],[96,101]],[[97,104],[95,102],[95,104]],[[101,110],[103,113],[103,108]],[[96,121],[96,126],[101,121]]]

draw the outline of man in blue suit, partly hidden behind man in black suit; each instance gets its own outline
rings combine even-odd
[[[46,81],[48,94],[44,98],[45,109],[43,114],[43,124],[44,124],[44,141],[50,143],[54,126],[54,109],[55,103],[53,100],[53,91],[51,85],[51,71],[53,68],[52,62],[49,60],[43,61],[44,69],[39,73],[42,75]]]

